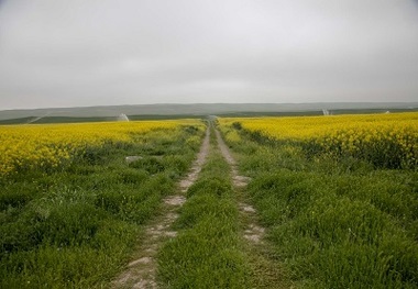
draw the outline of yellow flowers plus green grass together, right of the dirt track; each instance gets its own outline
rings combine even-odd
[[[418,288],[418,114],[220,119],[297,288]]]

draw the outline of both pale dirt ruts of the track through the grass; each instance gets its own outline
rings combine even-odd
[[[177,232],[172,231],[173,222],[178,218],[177,209],[186,201],[184,193],[198,179],[199,173],[205,165],[210,149],[210,126],[206,131],[200,151],[194,162],[188,175],[178,184],[178,194],[173,194],[164,199],[162,214],[156,216],[146,227],[143,240],[129,263],[127,269],[111,284],[111,288],[158,288],[156,277],[156,254],[162,243],[170,237],[175,237]],[[238,171],[237,162],[231,155],[227,144],[222,140],[220,132],[215,129],[218,147],[231,167],[232,182],[237,191],[245,188],[250,178],[241,176]],[[239,209],[243,219],[248,220],[244,227],[244,238],[250,244],[260,245],[264,236],[264,229],[257,225],[255,209],[245,203],[239,202]]]

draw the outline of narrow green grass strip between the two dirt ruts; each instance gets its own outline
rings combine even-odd
[[[158,253],[158,277],[169,288],[248,288],[239,211],[230,167],[213,148],[175,222],[179,230]]]

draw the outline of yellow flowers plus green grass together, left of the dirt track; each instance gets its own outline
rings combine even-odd
[[[108,285],[204,129],[199,120],[0,126],[0,288]]]

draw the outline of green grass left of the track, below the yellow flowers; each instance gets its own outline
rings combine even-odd
[[[109,143],[64,170],[0,180],[0,288],[102,288],[128,260],[141,224],[189,167],[202,126]],[[124,157],[141,155],[128,165]]]

